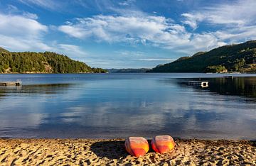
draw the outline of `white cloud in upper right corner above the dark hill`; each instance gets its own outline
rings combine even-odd
[[[183,13],[183,23],[193,30],[201,23],[211,32],[193,33],[195,48],[213,48],[229,43],[240,43],[256,39],[256,1],[232,1],[228,4],[216,4],[201,10]],[[206,42],[206,43],[205,43]],[[203,46],[205,43],[205,46]],[[201,47],[203,46],[203,47]],[[196,49],[197,50],[197,49]]]

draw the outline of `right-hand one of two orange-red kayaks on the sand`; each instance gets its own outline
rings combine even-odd
[[[158,135],[151,140],[152,149],[156,153],[166,153],[174,150],[174,139],[170,135]]]

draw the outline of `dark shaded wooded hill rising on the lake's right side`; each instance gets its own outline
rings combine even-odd
[[[256,72],[256,40],[225,45],[158,65],[149,72]]]

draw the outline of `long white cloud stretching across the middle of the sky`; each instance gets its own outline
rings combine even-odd
[[[164,16],[92,16],[76,18],[59,26],[59,31],[81,40],[107,43],[131,43],[174,49],[191,54],[224,45],[214,33],[190,33]]]

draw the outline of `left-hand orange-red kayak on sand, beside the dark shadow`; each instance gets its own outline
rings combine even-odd
[[[145,155],[149,151],[149,143],[143,137],[129,137],[124,145],[127,152],[136,157]]]

